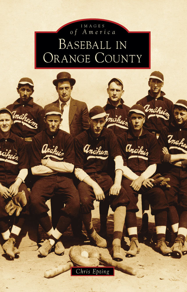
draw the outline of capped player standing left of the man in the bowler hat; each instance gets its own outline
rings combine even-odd
[[[19,98],[7,106],[13,114],[13,125],[11,131],[25,141],[26,151],[31,158],[32,139],[45,128],[44,109],[33,102],[31,95],[34,92],[33,81],[24,77],[18,82],[17,93]],[[32,188],[32,174],[29,169],[29,174],[26,179],[27,187]]]

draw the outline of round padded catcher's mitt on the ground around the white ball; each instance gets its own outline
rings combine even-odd
[[[82,251],[88,252],[88,258],[81,256]],[[97,267],[100,255],[101,252],[91,246],[73,246],[69,252],[70,260],[77,267]]]

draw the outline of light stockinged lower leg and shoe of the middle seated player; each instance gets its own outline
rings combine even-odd
[[[121,254],[121,239],[125,222],[126,207],[120,206],[114,212],[113,260],[123,260]]]

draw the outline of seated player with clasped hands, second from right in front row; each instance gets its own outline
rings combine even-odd
[[[171,255],[171,249],[165,243],[168,202],[159,187],[153,187],[150,178],[160,163],[160,153],[156,136],[144,127],[145,109],[133,105],[129,110],[129,130],[117,137],[124,160],[122,186],[127,191],[130,203],[127,205],[125,225],[129,233],[130,248],[127,257],[139,253],[136,212],[138,212],[138,194],[145,193],[155,216],[157,244],[156,251],[164,256]],[[145,187],[145,191],[142,186]]]

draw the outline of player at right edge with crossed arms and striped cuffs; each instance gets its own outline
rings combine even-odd
[[[173,254],[187,253],[187,101],[174,104],[174,121],[162,129],[158,143],[161,150],[162,173],[170,178],[170,189],[165,190],[169,203],[168,217],[176,235]],[[178,215],[178,212],[179,215]]]

